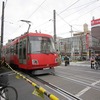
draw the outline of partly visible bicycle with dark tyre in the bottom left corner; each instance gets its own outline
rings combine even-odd
[[[17,90],[13,86],[8,85],[5,75],[0,76],[0,100],[18,100]]]

